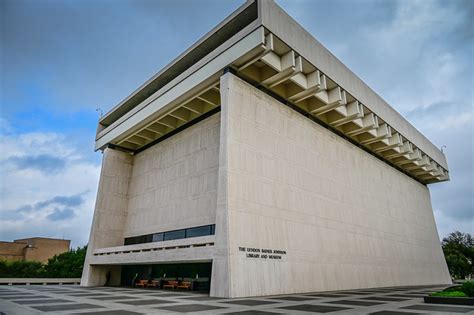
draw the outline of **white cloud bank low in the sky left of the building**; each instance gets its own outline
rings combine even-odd
[[[3,135],[0,151],[0,239],[64,237],[72,239],[73,246],[85,245],[100,165],[87,160],[57,133]],[[44,156],[62,161],[59,164],[64,167],[52,172],[48,164],[42,169],[43,160],[35,157]],[[8,163],[18,157],[37,165]]]

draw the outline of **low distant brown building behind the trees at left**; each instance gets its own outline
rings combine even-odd
[[[24,238],[13,242],[0,241],[0,260],[47,262],[54,255],[67,252],[70,245],[70,240],[44,237]]]

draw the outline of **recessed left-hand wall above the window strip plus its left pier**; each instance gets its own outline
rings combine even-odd
[[[135,156],[104,151],[81,285],[104,285],[109,272],[111,284],[120,283],[120,266],[94,264],[98,248],[215,223],[219,125],[216,114]]]

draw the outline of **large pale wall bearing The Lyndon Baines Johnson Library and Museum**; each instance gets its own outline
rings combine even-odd
[[[450,283],[427,187],[231,74],[221,91],[211,295]]]

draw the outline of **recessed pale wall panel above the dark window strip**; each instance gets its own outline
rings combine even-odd
[[[219,117],[135,156],[124,237],[215,223]]]

